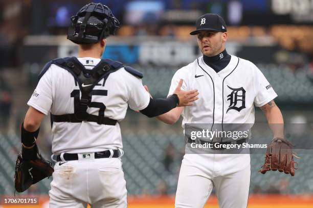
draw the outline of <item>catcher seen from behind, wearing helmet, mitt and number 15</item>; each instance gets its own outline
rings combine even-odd
[[[128,106],[147,117],[191,106],[197,90],[182,90],[183,80],[167,98],[152,99],[143,74],[120,62],[101,59],[107,38],[119,21],[100,3],[82,7],[71,18],[68,39],[78,57],[55,59],[39,74],[21,127],[22,151],[15,188],[25,191],[53,172],[49,207],[127,207],[119,122]],[[51,113],[54,170],[38,152],[36,138],[44,115]],[[74,188],[75,187],[75,188]]]

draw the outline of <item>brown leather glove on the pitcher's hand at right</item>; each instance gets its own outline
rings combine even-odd
[[[295,175],[295,161],[293,145],[289,141],[281,138],[275,138],[266,149],[265,162],[259,172],[265,174],[266,171],[284,172]]]

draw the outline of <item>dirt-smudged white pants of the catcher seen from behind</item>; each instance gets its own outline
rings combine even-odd
[[[57,162],[51,182],[50,208],[127,207],[127,191],[122,162],[103,158]]]

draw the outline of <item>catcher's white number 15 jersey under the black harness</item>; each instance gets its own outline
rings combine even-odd
[[[90,70],[100,62],[100,59],[95,58],[78,58],[78,60]],[[124,68],[110,73],[104,85],[103,81],[100,80],[94,90],[106,91],[103,93],[106,95],[93,95],[92,102],[104,103],[105,117],[121,121],[125,117],[128,105],[133,110],[143,110],[148,106],[150,97],[141,79]],[[73,114],[74,97],[71,93],[74,90],[79,91],[79,86],[75,85],[73,75],[52,64],[41,77],[27,104],[46,115],[49,112],[54,115]],[[88,108],[87,113],[98,115],[99,109]],[[113,126],[87,121],[54,122],[52,134],[54,154],[97,152],[123,147],[119,123]]]

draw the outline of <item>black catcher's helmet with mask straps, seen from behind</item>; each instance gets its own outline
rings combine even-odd
[[[97,43],[102,38],[114,35],[119,25],[119,20],[107,6],[90,3],[71,17],[68,39],[77,44]]]

